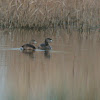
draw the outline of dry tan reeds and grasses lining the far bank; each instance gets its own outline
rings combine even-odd
[[[99,0],[0,0],[0,28],[100,28]]]

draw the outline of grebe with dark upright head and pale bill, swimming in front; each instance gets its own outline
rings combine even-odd
[[[52,39],[46,38],[46,39],[45,39],[45,42],[42,43],[42,44],[40,44],[38,48],[39,48],[39,49],[42,49],[42,50],[51,50],[52,48],[51,48],[51,46],[49,45],[49,43],[51,43],[51,42],[52,42]]]

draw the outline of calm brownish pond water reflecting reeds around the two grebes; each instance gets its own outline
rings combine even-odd
[[[22,52],[35,39],[50,52]],[[0,100],[100,100],[99,32],[0,31]]]

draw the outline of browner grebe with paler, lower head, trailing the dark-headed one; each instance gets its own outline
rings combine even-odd
[[[21,46],[21,50],[35,50],[35,43],[37,43],[35,40],[31,40],[28,44]]]

